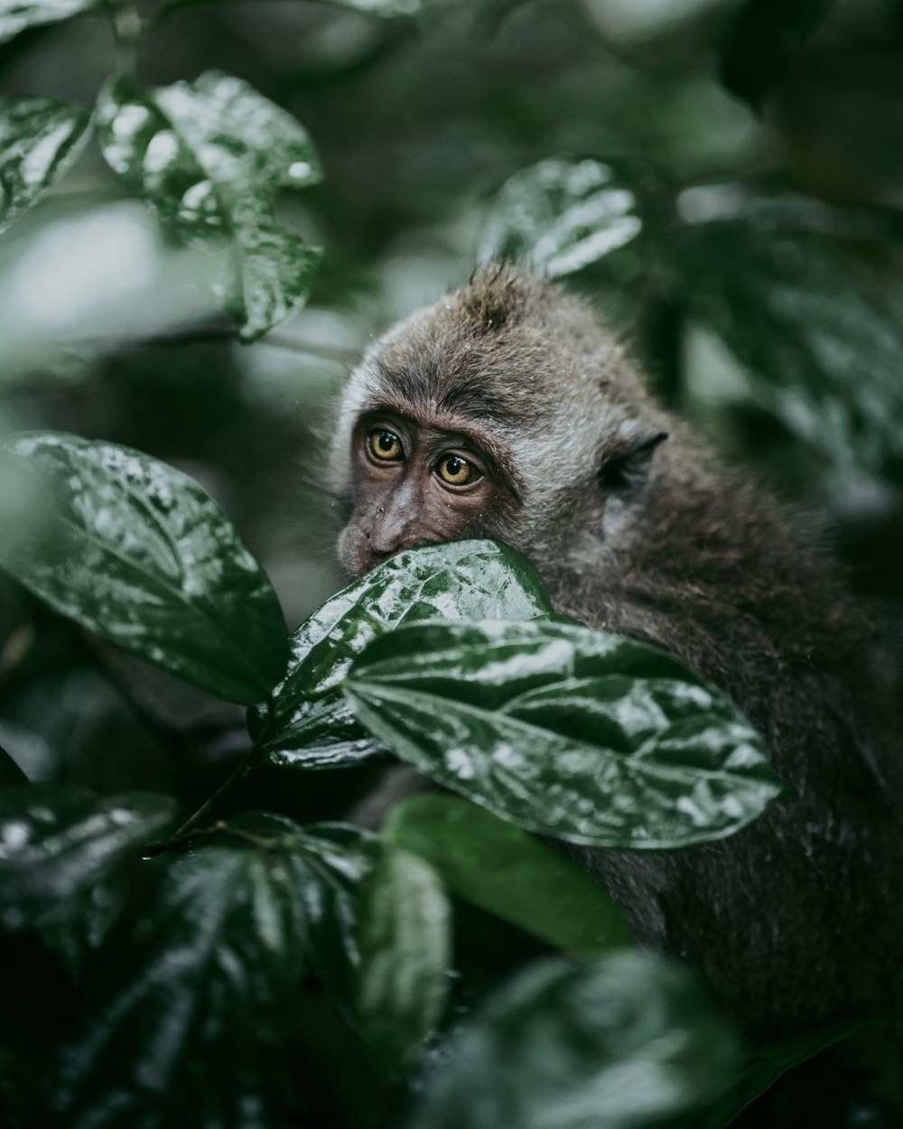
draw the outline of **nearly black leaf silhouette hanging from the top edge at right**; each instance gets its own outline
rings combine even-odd
[[[760,110],[834,0],[746,0],[734,18],[721,61],[728,90]]]

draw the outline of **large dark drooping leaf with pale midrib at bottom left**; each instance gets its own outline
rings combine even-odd
[[[155,881],[100,946],[62,1058],[68,1129],[295,1122],[305,920],[287,858],[236,839],[146,864]]]

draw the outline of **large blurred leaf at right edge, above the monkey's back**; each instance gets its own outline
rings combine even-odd
[[[752,392],[841,474],[903,457],[903,332],[829,240],[770,224],[692,225],[692,309],[748,368]]]

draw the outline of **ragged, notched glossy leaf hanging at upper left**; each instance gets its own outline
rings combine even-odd
[[[109,85],[104,156],[177,244],[216,253],[213,286],[245,341],[299,309],[321,252],[283,228],[281,189],[321,178],[303,126],[240,79],[209,71],[154,90]]]

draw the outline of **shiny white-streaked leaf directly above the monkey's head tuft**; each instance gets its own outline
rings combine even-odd
[[[515,260],[561,278],[632,242],[643,221],[633,189],[599,160],[543,160],[501,187],[479,260]]]

